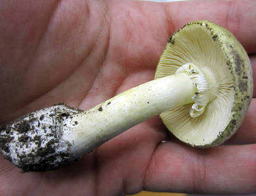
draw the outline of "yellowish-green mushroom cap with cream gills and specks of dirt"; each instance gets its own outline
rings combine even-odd
[[[191,22],[168,39],[155,79],[174,75],[187,63],[210,70],[219,83],[217,93],[198,117],[190,116],[189,105],[160,116],[184,143],[202,148],[219,145],[238,130],[251,103],[251,63],[231,32],[208,21]]]

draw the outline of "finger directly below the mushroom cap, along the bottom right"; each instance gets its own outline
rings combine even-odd
[[[153,153],[145,190],[251,194],[256,191],[256,145],[197,149],[163,143]]]

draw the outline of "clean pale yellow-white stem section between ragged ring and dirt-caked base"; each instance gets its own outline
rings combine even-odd
[[[187,73],[167,76],[133,87],[63,123],[63,139],[74,145],[76,156],[116,137],[118,134],[178,106],[194,103],[197,92]]]

